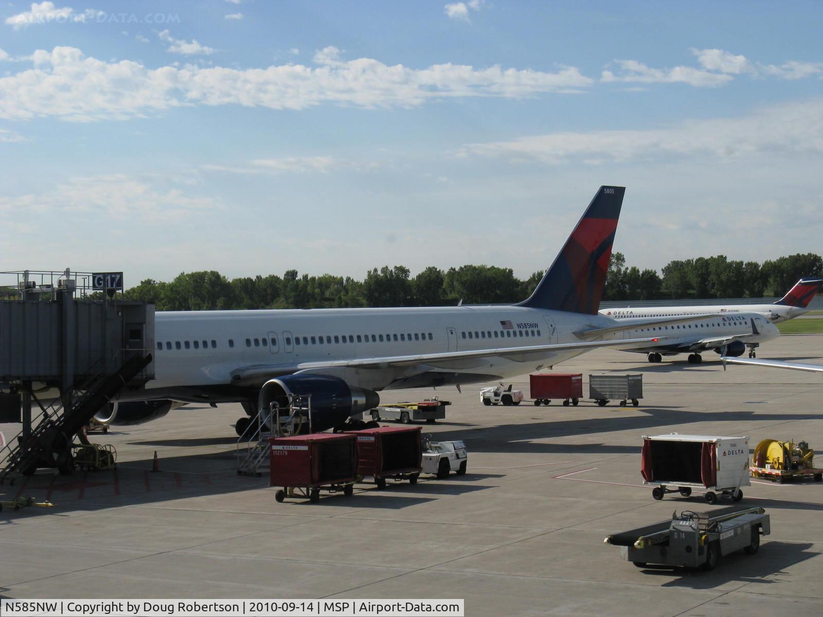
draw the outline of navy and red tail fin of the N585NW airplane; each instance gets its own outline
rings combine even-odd
[[[600,308],[625,187],[600,187],[532,295],[518,306],[594,315]]]

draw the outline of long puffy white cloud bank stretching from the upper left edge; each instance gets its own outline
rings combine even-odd
[[[402,64],[388,66],[373,58],[344,60],[334,47],[316,53],[314,67],[187,65],[151,69],[131,60],[86,58],[73,47],[38,50],[30,61],[32,68],[0,77],[0,118],[49,116],[88,122],[141,117],[196,104],[268,109],[306,109],[319,104],[412,108],[428,100],[474,96],[519,99],[574,92],[592,83],[575,67],[541,72],[446,63],[415,69]]]

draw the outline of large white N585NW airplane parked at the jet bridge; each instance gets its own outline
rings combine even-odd
[[[242,434],[270,402],[286,409],[291,395],[311,395],[316,432],[355,425],[351,416],[377,406],[383,390],[496,382],[588,350],[663,340],[661,327],[700,316],[617,322],[597,313],[624,193],[597,190],[518,304],[157,312],[155,379],[95,417],[141,424],[174,401],[240,402],[249,416],[235,424]]]

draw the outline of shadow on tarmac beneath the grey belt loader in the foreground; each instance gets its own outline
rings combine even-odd
[[[680,578],[664,582],[661,587],[714,589],[728,582],[751,582],[759,585],[785,582],[787,577],[790,576],[789,573],[785,572],[786,568],[811,559],[818,554],[815,550],[812,550],[813,546],[813,544],[806,542],[769,541],[766,537],[757,554],[748,555],[738,551],[726,555],[719,560],[717,569],[712,572],[674,568],[674,573],[680,574]],[[650,577],[671,577],[672,568],[649,565],[644,568],[643,573]],[[750,590],[754,593],[757,592],[756,589],[746,588],[746,591]]]

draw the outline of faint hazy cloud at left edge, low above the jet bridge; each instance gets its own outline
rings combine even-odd
[[[194,213],[221,207],[213,197],[190,197],[178,188],[158,188],[128,174],[78,176],[40,194],[0,197],[0,214],[70,212],[127,220],[130,224],[184,220]]]

